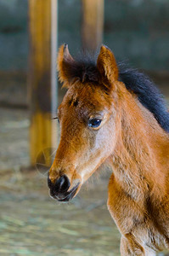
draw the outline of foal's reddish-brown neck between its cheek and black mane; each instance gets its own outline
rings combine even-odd
[[[127,92],[121,101],[121,129],[111,156],[116,182],[135,198],[149,189],[161,193],[166,186],[168,154],[168,135],[153,114]]]

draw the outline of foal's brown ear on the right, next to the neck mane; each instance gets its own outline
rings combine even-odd
[[[113,82],[118,79],[118,67],[115,61],[115,56],[105,45],[102,45],[100,48],[97,67],[104,85],[110,89]]]

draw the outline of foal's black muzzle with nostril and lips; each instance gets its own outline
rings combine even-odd
[[[52,183],[48,177],[48,188],[50,189],[50,195],[58,201],[70,201],[76,194],[79,183],[70,191],[70,181],[66,175],[59,177],[55,183]]]

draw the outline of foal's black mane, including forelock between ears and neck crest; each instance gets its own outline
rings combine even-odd
[[[136,94],[139,102],[149,109],[161,127],[169,132],[169,112],[160,90],[157,89],[148,76],[138,72],[137,69],[128,67],[124,63],[119,63],[118,68],[119,79],[126,85],[127,90]],[[99,82],[99,71],[96,62],[90,55],[74,61],[70,67],[70,74],[72,78],[78,77],[82,82]]]

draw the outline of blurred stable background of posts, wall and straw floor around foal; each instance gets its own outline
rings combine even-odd
[[[60,205],[35,167],[59,143],[56,53],[64,43],[71,55],[104,43],[169,102],[168,27],[168,0],[0,0],[0,255],[120,255],[106,208],[110,172]]]

